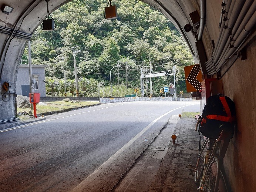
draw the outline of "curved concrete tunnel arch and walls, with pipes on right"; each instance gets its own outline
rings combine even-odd
[[[50,13],[69,1],[48,1]],[[224,159],[225,172],[232,191],[256,189],[256,1],[142,1],[179,30],[195,64],[200,64],[203,80],[220,80],[223,94],[235,102],[236,129]],[[11,13],[6,6],[13,8]],[[4,120],[17,117],[18,66],[28,40],[46,18],[46,0],[1,0],[0,8],[0,120]],[[5,82],[10,91],[4,89]],[[205,104],[202,98],[201,109]]]

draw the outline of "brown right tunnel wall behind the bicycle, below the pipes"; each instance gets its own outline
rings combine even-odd
[[[255,41],[246,52],[247,59],[238,58],[222,78],[224,94],[235,102],[237,113],[235,135],[224,158],[233,192],[256,189]]]

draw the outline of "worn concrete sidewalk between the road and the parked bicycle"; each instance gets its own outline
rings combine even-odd
[[[115,192],[193,192],[197,186],[186,169],[196,165],[199,135],[195,118],[171,117],[165,129],[114,188]],[[177,136],[176,144],[170,141]]]

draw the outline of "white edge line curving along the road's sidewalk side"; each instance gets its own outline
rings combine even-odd
[[[197,104],[191,104],[191,105],[197,105]],[[107,161],[105,161],[99,168],[97,168],[94,172],[92,172],[91,175],[89,175],[84,181],[82,181],[79,185],[77,185],[71,192],[83,192],[85,187],[90,184],[97,176],[99,176],[104,169],[106,169],[118,156],[122,154],[122,152],[125,151],[134,141],[136,141],[144,132],[146,132],[156,121],[164,117],[165,115],[168,115],[172,111],[175,111],[177,109],[187,107],[190,105],[184,105],[182,107],[178,107],[174,110],[166,112],[164,115],[161,115],[160,117],[156,118],[154,121],[152,121],[148,126],[146,126],[141,132],[139,132],[134,138],[132,138],[127,144],[122,146],[121,149],[119,149],[114,155],[112,155]]]

